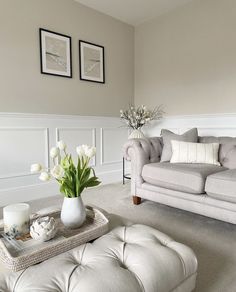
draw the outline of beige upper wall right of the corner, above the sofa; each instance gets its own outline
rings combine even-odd
[[[236,1],[194,0],[137,27],[135,103],[236,112]]]

